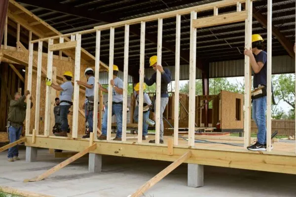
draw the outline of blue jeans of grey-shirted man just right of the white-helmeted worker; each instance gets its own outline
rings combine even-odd
[[[112,116],[116,116],[116,136],[121,138],[122,136],[122,104],[112,104]],[[107,122],[108,122],[108,106],[103,116],[102,134],[107,135]]]

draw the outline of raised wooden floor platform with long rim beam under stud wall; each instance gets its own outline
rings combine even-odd
[[[94,140],[97,147],[91,153],[175,161],[186,151],[191,150],[191,158],[186,163],[296,174],[294,143],[274,142],[272,144],[274,149],[271,152],[248,151],[244,149],[241,137],[219,136],[214,140],[196,136],[196,139],[199,140],[196,141],[194,147],[190,147],[187,145],[186,135],[183,135],[179,138],[179,145],[173,148],[173,155],[170,155],[167,141],[171,136],[165,136],[165,143],[159,145],[148,143],[148,140],[154,139],[153,135],[149,135],[147,140],[144,140],[141,144],[137,142],[136,137],[137,135],[127,134],[126,142]],[[232,145],[229,145],[229,143]],[[233,146],[233,144],[237,146]],[[35,143],[32,143],[32,136],[27,136],[25,145],[80,152],[89,146],[89,140],[37,135]]]

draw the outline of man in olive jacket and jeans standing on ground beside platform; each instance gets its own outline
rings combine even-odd
[[[21,93],[16,92],[14,94],[14,99],[10,100],[9,103],[9,112],[8,112],[8,121],[7,121],[7,130],[9,142],[15,142],[20,139],[23,122],[26,117],[26,109],[27,103],[25,102],[26,97],[30,95],[30,91],[28,90],[24,96]],[[32,100],[32,97],[30,97]],[[31,108],[33,103],[31,102]],[[20,160],[18,157],[18,146],[13,146],[8,149],[8,162],[14,162],[16,160]]]

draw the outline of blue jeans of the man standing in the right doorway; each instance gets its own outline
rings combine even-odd
[[[254,119],[258,128],[257,141],[260,144],[266,144],[266,108],[266,97],[253,99],[252,118]]]

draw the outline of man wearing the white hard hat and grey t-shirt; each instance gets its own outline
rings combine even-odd
[[[76,81],[79,86],[85,87],[85,100],[83,104],[84,113],[85,113],[85,135],[82,138],[88,138],[90,132],[93,131],[93,116],[94,116],[94,97],[95,97],[95,72],[92,68],[88,67],[84,70],[84,75],[87,82]]]

